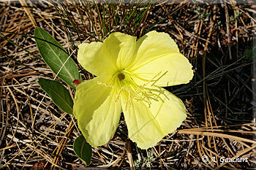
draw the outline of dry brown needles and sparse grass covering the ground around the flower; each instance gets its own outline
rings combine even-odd
[[[146,3],[145,3],[146,2]],[[113,139],[93,148],[91,165],[109,169],[252,169],[255,167],[255,32],[253,4],[200,1],[125,4],[124,1],[0,2],[0,167],[72,169],[85,166],[72,150],[80,131],[39,87],[55,76],[42,61],[34,39],[48,31],[78,65],[81,42],[102,41],[110,32],[143,36],[166,32],[193,65],[188,85],[167,88],[184,101],[187,120],[157,146],[140,150],[127,139],[121,117]],[[21,4],[20,4],[21,3]],[[59,82],[61,80],[57,79]],[[61,82],[64,84],[64,82]],[[74,97],[75,90],[69,88]],[[86,104],[85,104],[86,107]],[[203,155],[216,162],[203,162]],[[220,163],[219,159],[248,158]]]

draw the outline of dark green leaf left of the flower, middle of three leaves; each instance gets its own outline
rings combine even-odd
[[[73,113],[72,98],[67,88],[65,88],[60,82],[39,78],[38,84],[42,90],[50,96],[57,107],[69,114]]]

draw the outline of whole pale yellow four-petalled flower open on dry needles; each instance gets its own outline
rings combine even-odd
[[[192,65],[168,34],[110,34],[104,42],[78,46],[78,62],[92,80],[77,87],[74,115],[87,142],[108,143],[121,112],[129,139],[141,149],[153,147],[186,119],[183,102],[164,88],[189,82]]]

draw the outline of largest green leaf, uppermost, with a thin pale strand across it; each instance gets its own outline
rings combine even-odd
[[[42,28],[36,28],[34,36],[39,53],[42,55],[45,63],[55,74],[59,72],[58,77],[75,89],[72,81],[81,79],[78,67],[72,58],[69,58],[67,51]],[[67,58],[69,59],[67,60]]]

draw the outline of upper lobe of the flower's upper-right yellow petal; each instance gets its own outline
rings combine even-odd
[[[169,34],[150,31],[136,42],[135,61],[128,69],[137,69],[144,64],[170,53],[179,53],[178,46]]]

